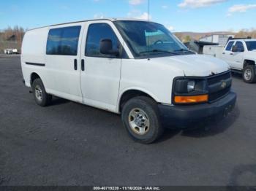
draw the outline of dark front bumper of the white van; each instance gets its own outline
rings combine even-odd
[[[211,104],[167,106],[159,104],[162,125],[166,128],[189,128],[201,122],[222,120],[233,110],[236,93],[230,91],[224,98]]]

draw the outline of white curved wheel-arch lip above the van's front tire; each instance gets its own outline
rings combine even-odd
[[[157,96],[155,96],[153,93],[148,92],[147,90],[141,90],[135,87],[129,88],[122,91],[122,93],[120,93],[120,96],[118,98],[118,113],[121,112],[122,107],[127,101],[129,101],[129,99],[135,98],[138,96],[146,96],[156,101],[157,103],[159,102],[159,99],[157,98]]]

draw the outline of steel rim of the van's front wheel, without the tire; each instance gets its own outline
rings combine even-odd
[[[148,115],[143,111],[143,109],[132,109],[132,111],[129,112],[128,121],[130,128],[136,134],[143,136],[148,133],[150,122]]]

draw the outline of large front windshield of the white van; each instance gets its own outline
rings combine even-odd
[[[135,58],[195,54],[158,23],[130,20],[114,23]]]

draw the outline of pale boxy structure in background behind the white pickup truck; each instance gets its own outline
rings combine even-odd
[[[228,38],[235,37],[234,34],[212,34],[209,36],[204,36],[199,39],[200,42],[211,42],[211,43],[217,43],[220,46],[225,46],[227,43]]]

